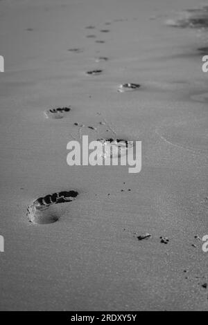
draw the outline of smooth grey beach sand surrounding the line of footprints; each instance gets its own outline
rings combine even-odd
[[[0,1],[1,310],[208,310],[207,38],[164,23],[198,5]],[[119,93],[126,82],[141,87]],[[101,120],[141,140],[140,173],[67,165],[74,123],[112,136]],[[79,195],[56,205],[57,222],[28,222],[35,199],[69,190]]]

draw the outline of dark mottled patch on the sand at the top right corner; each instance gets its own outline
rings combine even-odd
[[[208,6],[188,9],[166,20],[166,25],[180,28],[208,28]]]

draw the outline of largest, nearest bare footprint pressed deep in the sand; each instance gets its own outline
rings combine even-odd
[[[28,220],[31,223],[40,225],[58,221],[60,215],[52,206],[58,203],[71,202],[76,199],[76,196],[78,196],[76,191],[62,191],[37,198],[27,208]]]

